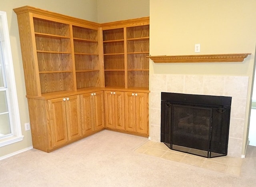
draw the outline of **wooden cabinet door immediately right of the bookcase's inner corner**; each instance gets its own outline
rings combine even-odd
[[[112,94],[111,94],[112,93]],[[111,91],[105,91],[105,119],[106,127],[115,128],[115,115],[114,115],[114,95]]]

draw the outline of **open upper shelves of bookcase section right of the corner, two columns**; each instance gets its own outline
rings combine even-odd
[[[105,86],[148,90],[149,24],[103,29]]]

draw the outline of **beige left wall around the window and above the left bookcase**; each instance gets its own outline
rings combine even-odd
[[[97,2],[95,0],[0,0],[0,10],[7,12],[14,74],[18,91],[20,123],[22,135],[24,135],[23,141],[0,147],[0,157],[32,146],[31,131],[24,130],[24,123],[29,122],[28,103],[26,99],[18,22],[16,14],[12,10],[13,8],[25,5],[97,22]]]

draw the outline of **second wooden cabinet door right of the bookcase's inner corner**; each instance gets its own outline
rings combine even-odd
[[[113,92],[113,94],[115,128],[124,130],[124,92]]]

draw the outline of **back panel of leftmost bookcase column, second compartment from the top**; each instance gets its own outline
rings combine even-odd
[[[70,39],[56,39],[36,36],[36,50],[71,53]]]

